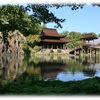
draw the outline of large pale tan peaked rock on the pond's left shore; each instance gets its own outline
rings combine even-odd
[[[23,44],[26,42],[25,36],[20,33],[18,30],[8,33],[8,42],[9,42],[9,53],[21,53],[23,54]]]

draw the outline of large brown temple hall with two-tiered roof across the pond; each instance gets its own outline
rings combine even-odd
[[[56,29],[51,28],[43,28],[40,38],[39,46],[42,49],[66,49],[66,43],[69,41],[68,37],[58,34]]]

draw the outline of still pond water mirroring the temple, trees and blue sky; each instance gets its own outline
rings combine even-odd
[[[0,57],[0,83],[33,76],[35,80],[63,82],[100,77],[100,56]]]

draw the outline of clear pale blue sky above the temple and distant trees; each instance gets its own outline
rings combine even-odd
[[[60,9],[50,8],[58,18],[65,18],[66,21],[62,23],[63,28],[58,28],[58,32],[76,31],[76,32],[94,32],[100,34],[100,7],[94,7],[92,5],[85,5],[83,9],[72,11],[69,7]],[[46,26],[48,28],[54,28],[53,23],[49,23]]]

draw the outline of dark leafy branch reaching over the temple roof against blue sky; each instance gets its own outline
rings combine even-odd
[[[57,24],[55,27],[62,28],[61,23],[65,21],[65,19],[57,18],[52,12],[49,11],[49,8],[56,7],[63,7],[64,5],[56,5],[56,4],[28,4],[25,8],[28,11],[31,11],[31,16],[36,19],[38,23],[47,24],[49,22],[54,22]]]

